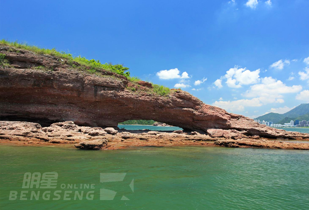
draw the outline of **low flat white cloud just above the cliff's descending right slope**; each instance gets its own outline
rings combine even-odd
[[[241,99],[236,101],[215,101],[212,105],[218,106],[222,109],[228,109],[230,111],[243,111],[245,107],[258,107],[262,106],[262,103],[258,98]]]

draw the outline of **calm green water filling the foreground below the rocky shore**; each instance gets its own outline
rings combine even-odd
[[[66,146],[0,145],[1,206],[5,209],[309,209],[309,152],[296,150],[143,147],[83,151]],[[9,200],[25,172],[57,172],[61,199]],[[100,182],[100,173],[127,173]],[[129,184],[134,179],[134,192]],[[63,200],[61,184],[94,184],[93,200]],[[100,200],[100,188],[117,191]],[[73,190],[76,191],[76,190]],[[77,189],[77,191],[82,191]],[[90,191],[86,189],[85,191]],[[18,194],[19,195],[19,194]],[[125,195],[130,200],[120,200]]]

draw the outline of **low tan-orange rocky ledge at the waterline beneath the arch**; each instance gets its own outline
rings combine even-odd
[[[197,131],[126,131],[114,128],[75,125],[72,121],[42,127],[38,123],[0,121],[0,143],[23,145],[74,144],[81,149],[123,149],[131,146],[223,146],[238,148],[276,148],[309,150],[309,138],[291,143],[283,140],[247,136],[236,130],[208,129]],[[73,147],[73,145],[72,145]]]

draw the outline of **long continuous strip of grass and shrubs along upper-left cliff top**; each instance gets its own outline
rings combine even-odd
[[[99,60],[94,60],[94,59],[88,60],[85,57],[81,57],[81,56],[73,57],[72,54],[65,53],[65,52],[58,52],[55,48],[44,49],[44,48],[40,48],[37,46],[28,45],[26,43],[21,44],[21,43],[18,43],[17,41],[10,42],[10,41],[6,41],[2,39],[0,40],[0,44],[15,47],[18,49],[29,50],[29,51],[32,51],[34,53],[41,54],[41,55],[51,55],[57,58],[63,58],[63,59],[66,59],[68,63],[71,64],[72,67],[77,67],[73,63],[73,62],[77,62],[80,65],[87,66],[89,68],[88,71],[92,74],[96,73],[100,69],[103,69],[106,71],[112,71],[119,75],[124,75],[126,77],[130,76],[130,72],[128,71],[129,68],[123,66],[122,64],[115,64],[115,65],[112,65],[112,63],[102,64]]]

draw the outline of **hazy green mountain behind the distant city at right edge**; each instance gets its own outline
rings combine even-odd
[[[263,116],[260,116],[258,118],[255,118],[255,120],[260,121],[272,121],[275,124],[284,124],[288,123],[291,120],[309,120],[309,104],[301,104],[295,107],[294,109],[284,113],[284,114],[278,114],[278,113],[268,113]]]

